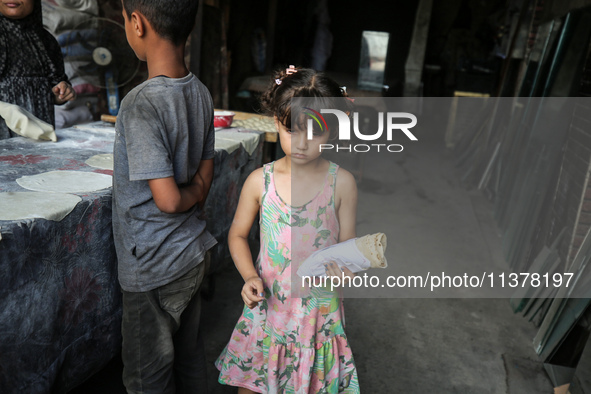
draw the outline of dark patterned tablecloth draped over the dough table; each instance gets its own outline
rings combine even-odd
[[[240,133],[238,142],[226,133],[216,144],[205,208],[208,229],[219,242],[214,262],[229,256],[227,232],[241,185],[262,164],[262,134],[232,132]],[[112,153],[112,126],[99,122],[56,133],[57,143],[0,141],[0,193],[28,191],[16,179],[47,171],[112,175],[85,164],[91,156]],[[1,393],[66,392],[120,351],[111,189],[77,195],[82,201],[61,221],[0,220]]]

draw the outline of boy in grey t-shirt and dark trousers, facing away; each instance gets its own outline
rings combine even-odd
[[[123,290],[123,383],[129,393],[197,392],[206,252],[199,217],[213,178],[213,103],[185,66],[198,0],[122,0],[129,45],[148,80],[121,103],[113,234]]]

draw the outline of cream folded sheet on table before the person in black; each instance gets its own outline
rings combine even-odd
[[[23,137],[34,140],[57,141],[52,125],[42,121],[18,105],[0,101],[0,117],[4,118],[10,130]]]

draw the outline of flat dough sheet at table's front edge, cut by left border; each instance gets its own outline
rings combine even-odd
[[[82,199],[65,193],[0,193],[0,220],[47,219],[60,221]]]

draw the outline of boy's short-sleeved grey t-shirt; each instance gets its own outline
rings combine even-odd
[[[149,179],[189,183],[201,160],[214,157],[213,102],[189,74],[155,77],[134,88],[117,117],[113,171],[113,235],[119,282],[149,291],[181,277],[216,244],[196,206],[161,212]]]

